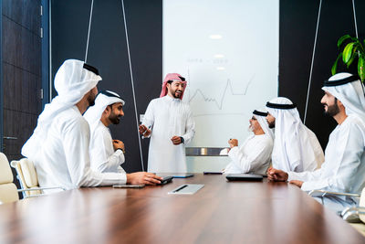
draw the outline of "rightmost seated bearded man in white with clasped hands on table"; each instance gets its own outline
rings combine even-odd
[[[338,126],[330,133],[326,159],[314,172],[284,172],[270,169],[269,180],[290,181],[303,191],[326,190],[360,194],[365,187],[365,97],[364,86],[358,76],[339,73],[326,80],[321,103],[325,113]],[[350,196],[316,197],[325,206],[339,211],[357,205]]]

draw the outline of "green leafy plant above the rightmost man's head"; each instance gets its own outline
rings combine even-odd
[[[345,43],[347,43],[345,45]],[[365,40],[361,43],[360,39],[357,37],[351,37],[349,35],[345,35],[339,38],[337,42],[337,46],[339,48],[343,48],[342,51],[339,52],[339,57],[336,59],[335,63],[332,66],[331,72],[332,75],[336,74],[337,65],[339,62],[339,58],[342,58],[344,64],[349,66],[353,63],[355,59],[358,59],[358,73],[360,76],[360,80],[364,82],[365,79]]]

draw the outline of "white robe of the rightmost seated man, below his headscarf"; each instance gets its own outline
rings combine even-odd
[[[365,127],[360,119],[349,115],[330,133],[325,163],[321,168],[314,172],[288,172],[288,180],[303,181],[303,191],[327,190],[360,194],[365,187],[365,144],[361,135],[364,132]],[[325,197],[325,205],[327,202],[334,210],[343,210],[344,207],[356,204],[356,199],[330,196]]]

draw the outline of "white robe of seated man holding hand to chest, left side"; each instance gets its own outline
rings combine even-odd
[[[124,154],[121,150],[114,151],[110,129],[99,121],[91,130],[89,145],[91,168],[99,172],[125,174],[120,166],[125,161]]]

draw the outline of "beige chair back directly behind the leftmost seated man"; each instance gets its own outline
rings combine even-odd
[[[11,165],[16,168],[16,173],[23,189],[31,189],[39,186],[38,178],[36,176],[36,168],[32,161],[27,158],[22,158],[19,161],[12,161]],[[42,194],[40,190],[25,192],[26,196],[36,196],[40,194]]]

